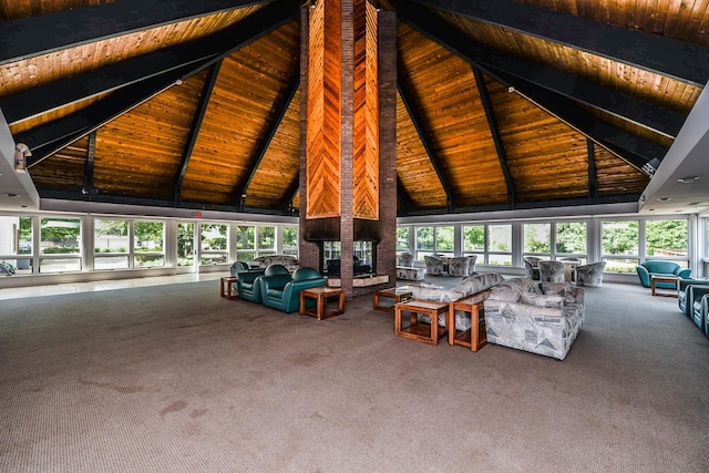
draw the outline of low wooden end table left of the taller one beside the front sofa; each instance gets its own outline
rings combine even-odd
[[[409,340],[422,341],[430,345],[439,345],[439,339],[446,333],[446,328],[439,328],[439,315],[446,312],[448,302],[438,302],[434,300],[411,299],[405,302],[399,302],[394,309],[394,335]],[[402,313],[411,313],[411,323],[409,327],[402,326]],[[427,313],[431,317],[431,323],[419,322],[417,313]],[[448,319],[448,316],[446,316]]]

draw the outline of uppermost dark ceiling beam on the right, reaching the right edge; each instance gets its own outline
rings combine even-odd
[[[589,18],[547,10],[513,0],[414,0],[438,10],[472,18],[561,43],[613,61],[703,88],[709,80],[705,47],[617,27]],[[410,3],[401,0],[401,8]],[[429,13],[428,17],[431,14]],[[423,20],[423,19],[422,19]]]

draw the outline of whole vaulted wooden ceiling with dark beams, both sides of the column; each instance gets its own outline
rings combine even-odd
[[[40,195],[299,208],[299,3],[0,0],[0,110]],[[709,79],[705,1],[374,3],[400,215],[635,202]]]

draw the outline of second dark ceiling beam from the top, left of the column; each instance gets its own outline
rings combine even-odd
[[[65,106],[81,100],[131,85],[188,64],[218,61],[226,53],[269,33],[298,14],[297,2],[279,0],[222,31],[198,40],[127,59],[69,79],[0,97],[8,123]]]

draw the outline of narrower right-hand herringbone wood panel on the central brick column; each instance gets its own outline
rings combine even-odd
[[[353,195],[356,218],[379,219],[378,14],[354,1]]]

